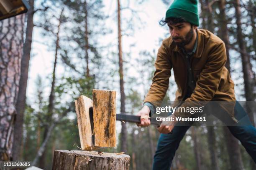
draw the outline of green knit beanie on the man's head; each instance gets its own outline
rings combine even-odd
[[[174,0],[166,11],[165,18],[183,18],[188,23],[199,26],[197,0]]]

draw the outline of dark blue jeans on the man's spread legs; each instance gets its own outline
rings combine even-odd
[[[243,121],[248,121],[247,125],[227,126],[232,135],[240,140],[243,147],[256,163],[256,128],[250,123],[247,113],[243,107],[236,102],[235,117],[243,116]],[[174,126],[172,134],[161,134],[158,140],[156,153],[154,155],[153,170],[169,170],[175,152],[179,147],[179,143],[184,137],[190,126]]]

